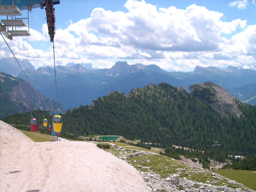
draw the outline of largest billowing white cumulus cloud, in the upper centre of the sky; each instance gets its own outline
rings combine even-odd
[[[222,22],[223,14],[195,4],[186,10],[157,9],[144,0],[128,0],[124,6],[127,13],[95,8],[90,18],[66,29],[77,34],[80,43],[73,43],[70,34],[66,39],[89,58],[154,59],[164,58],[165,51],[220,50],[219,44],[225,42],[220,33],[230,34],[246,26],[240,19]]]

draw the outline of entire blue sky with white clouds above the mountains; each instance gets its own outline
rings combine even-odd
[[[111,68],[127,61],[180,72],[256,69],[256,0],[60,0],[54,7],[57,65]],[[34,8],[29,18],[31,36],[8,44],[35,68],[54,66],[45,10]],[[0,58],[12,57],[4,40],[0,47]]]

